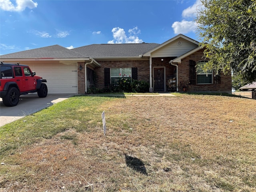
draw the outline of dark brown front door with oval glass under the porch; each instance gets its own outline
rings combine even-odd
[[[154,92],[164,91],[164,68],[154,68]]]

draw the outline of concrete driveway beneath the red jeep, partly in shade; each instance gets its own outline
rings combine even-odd
[[[74,94],[48,94],[46,98],[39,98],[37,94],[21,95],[18,105],[14,107],[6,107],[0,98],[0,126],[38,112],[71,96]]]

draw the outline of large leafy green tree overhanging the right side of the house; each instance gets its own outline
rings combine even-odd
[[[209,69],[256,80],[256,0],[201,0],[196,22]]]

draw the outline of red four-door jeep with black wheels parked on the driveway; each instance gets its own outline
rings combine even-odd
[[[46,97],[48,89],[46,79],[36,76],[27,65],[0,62],[0,97],[6,106],[16,106],[20,95],[37,92]]]

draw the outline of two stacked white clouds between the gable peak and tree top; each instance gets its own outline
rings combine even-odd
[[[182,11],[182,18],[191,19],[191,20],[182,20],[181,22],[176,21],[172,24],[172,28],[175,34],[186,34],[188,32],[195,32],[198,24],[193,20],[196,18],[196,13],[198,10],[202,10],[204,7],[200,0],[196,0],[196,2],[184,9]]]

